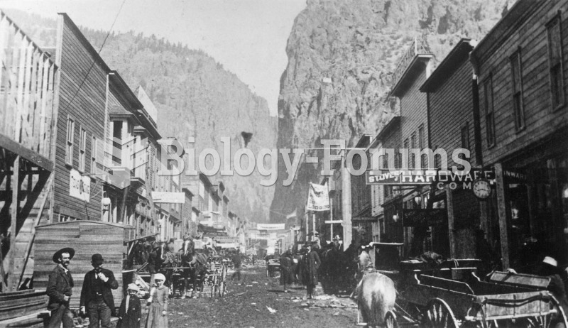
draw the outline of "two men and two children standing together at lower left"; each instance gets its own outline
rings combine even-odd
[[[75,249],[61,248],[53,254],[53,262],[57,263],[51,271],[48,280],[47,295],[50,317],[45,327],[63,328],[75,327],[73,314],[70,310],[70,300],[73,290],[73,278],[69,270]],[[139,288],[136,284],[128,285],[128,295],[124,297],[118,314],[114,307],[112,290],[119,288],[114,273],[103,268],[104,258],[96,253],[91,257],[93,270],[84,275],[80,298],[80,313],[88,315],[89,328],[111,327],[111,316],[119,317],[116,327],[140,327],[142,316],[141,302],[138,298]],[[169,290],[164,285],[165,277],[161,273],[153,276],[155,285],[150,290],[147,300],[149,305],[146,327],[168,327],[168,295]]]

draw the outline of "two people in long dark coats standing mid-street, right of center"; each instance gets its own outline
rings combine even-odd
[[[293,254],[288,250],[280,256],[280,283],[284,285],[284,293],[288,293],[288,285],[301,281],[306,286],[307,298],[312,299],[322,262],[312,242],[308,241],[304,247],[301,252]]]

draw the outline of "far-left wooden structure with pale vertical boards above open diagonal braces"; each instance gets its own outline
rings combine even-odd
[[[0,11],[0,288],[31,277],[34,228],[48,219],[60,83],[50,54]]]

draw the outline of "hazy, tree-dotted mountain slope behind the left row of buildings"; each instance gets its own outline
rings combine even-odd
[[[55,17],[15,10],[6,13],[40,47],[55,48]],[[223,156],[222,137],[231,141],[231,158],[239,148],[246,147],[254,155],[261,148],[275,148],[277,119],[269,115],[266,99],[253,94],[203,51],[154,35],[129,32],[107,37],[103,31],[81,31],[96,50],[104,43],[103,60],[131,89],[141,85],[146,90],[158,109],[158,131],[163,137],[178,138],[185,148],[195,148],[197,157],[205,148],[216,149]],[[195,138],[193,145],[187,143],[190,136]],[[231,212],[252,221],[267,221],[274,187],[260,184],[261,178],[266,178],[258,170],[246,177],[217,174],[209,178],[213,183],[224,183]]]

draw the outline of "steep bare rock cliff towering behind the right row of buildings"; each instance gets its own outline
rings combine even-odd
[[[362,133],[377,133],[398,110],[387,94],[398,60],[414,38],[423,38],[439,62],[460,38],[481,40],[512,2],[308,0],[286,47],[278,147],[321,147],[322,138],[353,146]],[[271,221],[281,222],[278,213],[305,204],[307,184],[321,180],[319,170],[303,165],[293,185],[285,187],[280,165]]]

